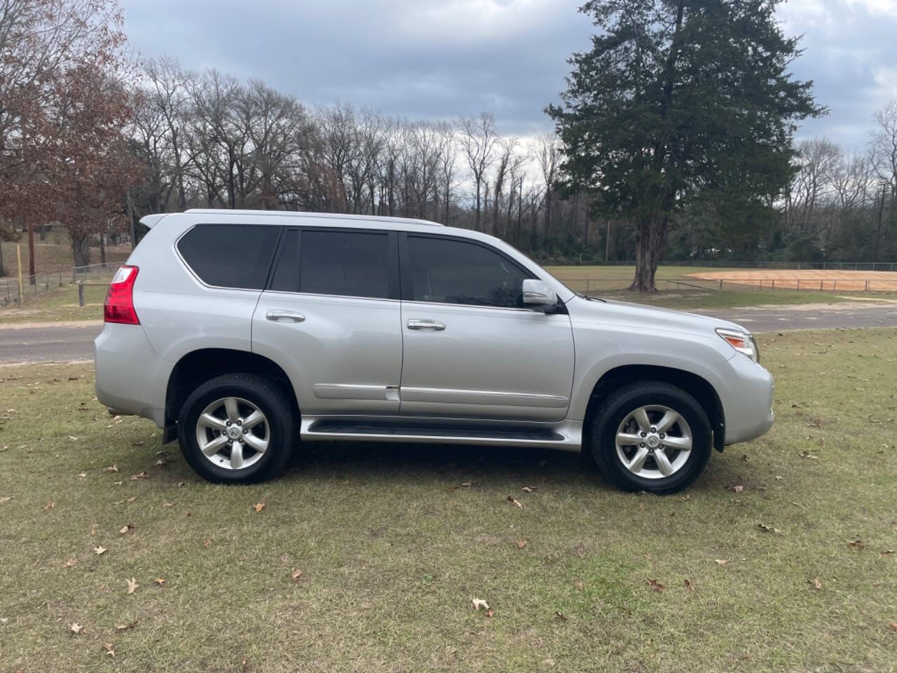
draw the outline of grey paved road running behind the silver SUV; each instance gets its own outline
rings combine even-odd
[[[876,302],[877,303],[877,302]],[[807,328],[897,327],[897,303],[814,304],[703,311],[735,320],[753,332]],[[43,323],[17,328],[0,325],[0,363],[91,360],[100,322]]]

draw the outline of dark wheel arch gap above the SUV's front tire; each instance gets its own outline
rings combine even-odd
[[[674,367],[654,364],[623,364],[605,371],[592,389],[583,425],[588,428],[592,416],[597,411],[598,404],[609,393],[626,383],[638,380],[662,380],[683,389],[698,400],[710,419],[710,427],[713,429],[713,448],[722,452],[726,439],[726,416],[716,389],[713,388],[710,381],[698,374]],[[586,437],[588,437],[588,433],[584,435],[584,443],[588,441]]]

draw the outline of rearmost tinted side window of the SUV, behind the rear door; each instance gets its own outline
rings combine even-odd
[[[178,241],[178,250],[205,284],[261,290],[279,234],[273,226],[197,224]]]

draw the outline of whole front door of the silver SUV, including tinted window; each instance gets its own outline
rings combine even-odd
[[[401,250],[402,415],[562,420],[570,316],[523,308],[535,276],[474,240],[409,233]]]

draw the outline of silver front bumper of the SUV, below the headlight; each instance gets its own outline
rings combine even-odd
[[[769,431],[775,421],[772,374],[741,354],[720,364],[707,376],[717,390],[726,420],[726,445],[751,441]]]

